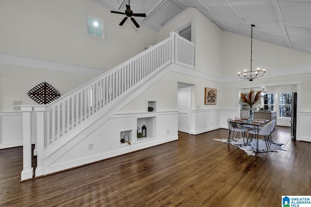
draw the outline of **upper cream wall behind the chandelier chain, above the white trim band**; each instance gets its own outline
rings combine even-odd
[[[221,77],[236,77],[238,72],[250,70],[250,42],[249,37],[222,32]],[[311,54],[253,39],[252,63],[253,69],[265,68],[269,74],[274,70],[311,65]]]

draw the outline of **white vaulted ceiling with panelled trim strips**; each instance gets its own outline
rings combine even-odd
[[[124,12],[128,0],[91,0]],[[224,31],[311,54],[311,0],[130,0],[138,24],[159,31],[188,7],[198,9]],[[133,25],[134,26],[134,25]]]

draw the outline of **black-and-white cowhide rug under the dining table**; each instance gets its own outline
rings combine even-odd
[[[227,143],[228,139],[213,139],[216,141],[220,141],[223,143]],[[246,142],[246,139],[245,139]],[[230,144],[233,146],[237,146],[240,149],[244,150],[245,153],[249,156],[255,156],[257,153],[266,153],[266,152],[279,152],[279,151],[286,151],[285,149],[282,149],[282,143],[271,143],[269,150],[267,150],[266,143],[264,140],[258,141],[258,152],[256,149],[256,141],[255,139],[252,140],[252,142],[248,143],[246,146],[243,143],[243,138],[240,139],[231,139]]]

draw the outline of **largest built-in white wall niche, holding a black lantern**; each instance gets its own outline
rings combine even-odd
[[[146,126],[147,133],[146,137],[138,138],[138,135],[136,135],[136,142],[144,142],[147,140],[152,140],[156,138],[156,117],[141,117],[137,118],[137,126],[139,127],[139,130],[137,132],[142,132],[142,126]]]

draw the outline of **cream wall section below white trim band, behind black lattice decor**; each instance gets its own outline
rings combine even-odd
[[[13,111],[13,101],[38,104],[27,93],[41,82],[48,82],[62,96],[94,76],[0,64],[0,111]]]

